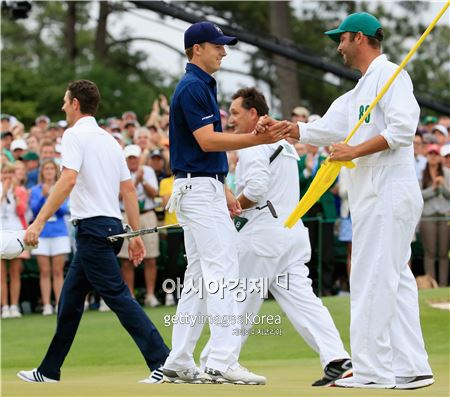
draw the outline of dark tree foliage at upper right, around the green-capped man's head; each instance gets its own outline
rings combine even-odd
[[[245,30],[270,36],[268,2],[258,1],[202,1],[188,2],[195,5],[204,15],[214,15],[225,19],[231,25]],[[335,28],[353,12],[371,12],[376,15],[385,30],[383,51],[393,62],[400,63],[412,45],[425,31],[426,23],[434,16],[426,13],[430,4],[426,1],[400,2],[355,2],[355,1],[309,1],[291,2],[293,7],[292,24],[295,45],[306,53],[319,55],[331,62],[342,64],[336,51],[336,44],[323,32]],[[425,17],[426,15],[426,17]],[[450,62],[448,39],[450,28],[438,26],[424,42],[418,53],[407,66],[416,93],[434,97],[442,102],[450,102]],[[258,49],[248,56],[248,63],[255,79],[268,83],[276,91],[277,74],[274,68],[286,67],[274,57]],[[330,79],[323,71],[297,64],[298,90],[301,104],[313,112],[323,113],[339,95],[354,86],[344,79]],[[330,83],[330,81],[332,83]],[[279,93],[280,98],[289,95]]]

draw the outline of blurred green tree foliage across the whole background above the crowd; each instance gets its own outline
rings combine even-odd
[[[167,78],[165,70],[148,68],[146,60],[151,55],[132,49],[129,32],[122,32],[116,40],[108,31],[108,16],[126,12],[124,4],[36,1],[26,20],[11,21],[2,15],[2,112],[16,115],[27,126],[38,114],[63,118],[60,107],[65,87],[78,78],[98,84],[103,98],[99,117],[133,109],[142,120],[158,94],[170,96],[176,79]],[[323,32],[336,27],[349,13],[369,11],[379,17],[386,32],[383,50],[397,63],[432,18],[426,1],[295,1],[290,5],[291,17],[286,23],[292,27],[293,45],[338,64],[342,60],[336,44]],[[268,2],[187,1],[182,6],[198,15],[219,17],[231,26],[270,36]],[[444,103],[450,102],[449,36],[448,24],[435,28],[407,66],[416,93]],[[315,113],[323,113],[354,85],[303,64],[288,64],[258,49],[247,57],[256,84],[264,81],[280,100],[291,95],[295,87],[280,92],[277,69],[297,73],[299,105]]]

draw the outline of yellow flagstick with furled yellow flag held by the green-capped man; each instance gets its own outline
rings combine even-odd
[[[447,3],[442,7],[441,11],[436,15],[436,17],[433,19],[433,21],[430,23],[428,28],[423,32],[420,39],[417,41],[417,43],[414,45],[413,48],[409,51],[408,55],[406,55],[403,62],[398,66],[394,74],[391,76],[391,78],[386,82],[384,87],[381,89],[377,97],[373,100],[373,102],[370,104],[370,106],[367,108],[367,110],[364,112],[364,114],[361,116],[359,121],[356,123],[353,130],[348,134],[347,138],[345,139],[344,143],[348,143],[348,141],[353,137],[357,129],[361,126],[364,119],[370,114],[370,112],[373,110],[373,108],[377,105],[377,103],[380,101],[380,99],[383,97],[383,95],[386,93],[386,91],[389,89],[389,87],[394,82],[395,78],[399,75],[399,73],[403,70],[405,65],[409,62],[411,57],[414,55],[414,53],[417,51],[417,49],[420,47],[420,45],[423,43],[425,38],[428,36],[428,34],[433,30],[433,28],[436,26],[439,19],[442,17],[442,15],[447,11],[447,8],[450,6],[450,0],[447,1]],[[354,168],[355,164],[351,161],[330,161],[329,157],[322,163],[319,171],[317,172],[314,180],[311,182],[311,185],[306,192],[306,194],[302,197],[300,202],[295,207],[294,211],[289,215],[289,217],[286,219],[284,226],[285,227],[293,227],[298,220],[306,214],[306,212],[314,205],[314,203],[319,200],[319,198],[325,193],[328,188],[332,185],[332,183],[336,180],[337,176],[339,175],[339,172],[341,168],[345,166],[348,168]]]

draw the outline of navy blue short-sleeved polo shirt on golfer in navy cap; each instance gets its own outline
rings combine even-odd
[[[193,135],[208,124],[213,124],[216,133],[222,132],[216,80],[188,63],[170,104],[170,166],[174,174],[178,171],[228,173],[226,153],[204,152]]]

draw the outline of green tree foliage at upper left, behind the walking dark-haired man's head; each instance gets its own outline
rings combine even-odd
[[[98,117],[120,116],[132,109],[142,120],[159,94],[171,92],[170,84],[163,86],[167,78],[145,66],[148,54],[133,51],[131,42],[111,45],[114,39],[110,35],[106,35],[106,55],[96,56],[95,4],[76,2],[75,6],[73,60],[66,34],[67,2],[33,2],[26,20],[12,21],[2,15],[2,112],[15,115],[26,126],[39,114],[62,119],[67,83],[85,78],[94,81],[102,94]],[[124,37],[126,32],[121,39]]]

